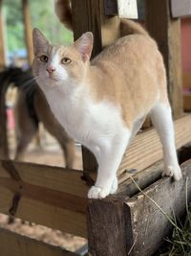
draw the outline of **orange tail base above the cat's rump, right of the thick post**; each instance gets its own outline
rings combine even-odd
[[[137,22],[130,19],[121,19],[120,20],[120,35],[148,35],[148,33],[143,29],[141,25]]]

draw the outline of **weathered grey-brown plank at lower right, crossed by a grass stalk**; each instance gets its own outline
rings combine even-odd
[[[160,179],[144,190],[144,193],[159,204],[161,209],[172,217],[182,216],[185,213],[186,204],[186,178],[191,178],[191,161],[182,166],[183,178],[180,182],[173,182],[168,177]],[[191,183],[188,182],[188,200],[191,199]],[[126,203],[131,212],[133,230],[133,251],[131,255],[152,255],[159,249],[163,239],[168,236],[172,225],[162,215],[154,203],[139,193]],[[173,213],[174,212],[174,213]],[[151,240],[152,234],[152,240]]]

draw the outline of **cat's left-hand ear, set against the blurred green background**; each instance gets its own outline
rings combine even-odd
[[[48,47],[49,45],[49,41],[47,40],[47,38],[38,29],[33,29],[32,39],[34,55],[36,55],[39,49]]]

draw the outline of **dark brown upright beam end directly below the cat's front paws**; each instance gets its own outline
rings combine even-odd
[[[112,200],[92,199],[88,204],[88,244],[90,255],[125,256],[128,245],[127,219],[124,213],[123,198]]]

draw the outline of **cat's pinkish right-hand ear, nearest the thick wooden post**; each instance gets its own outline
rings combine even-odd
[[[91,32],[87,32],[74,42],[74,47],[80,53],[84,62],[91,58],[93,50],[94,36]]]

